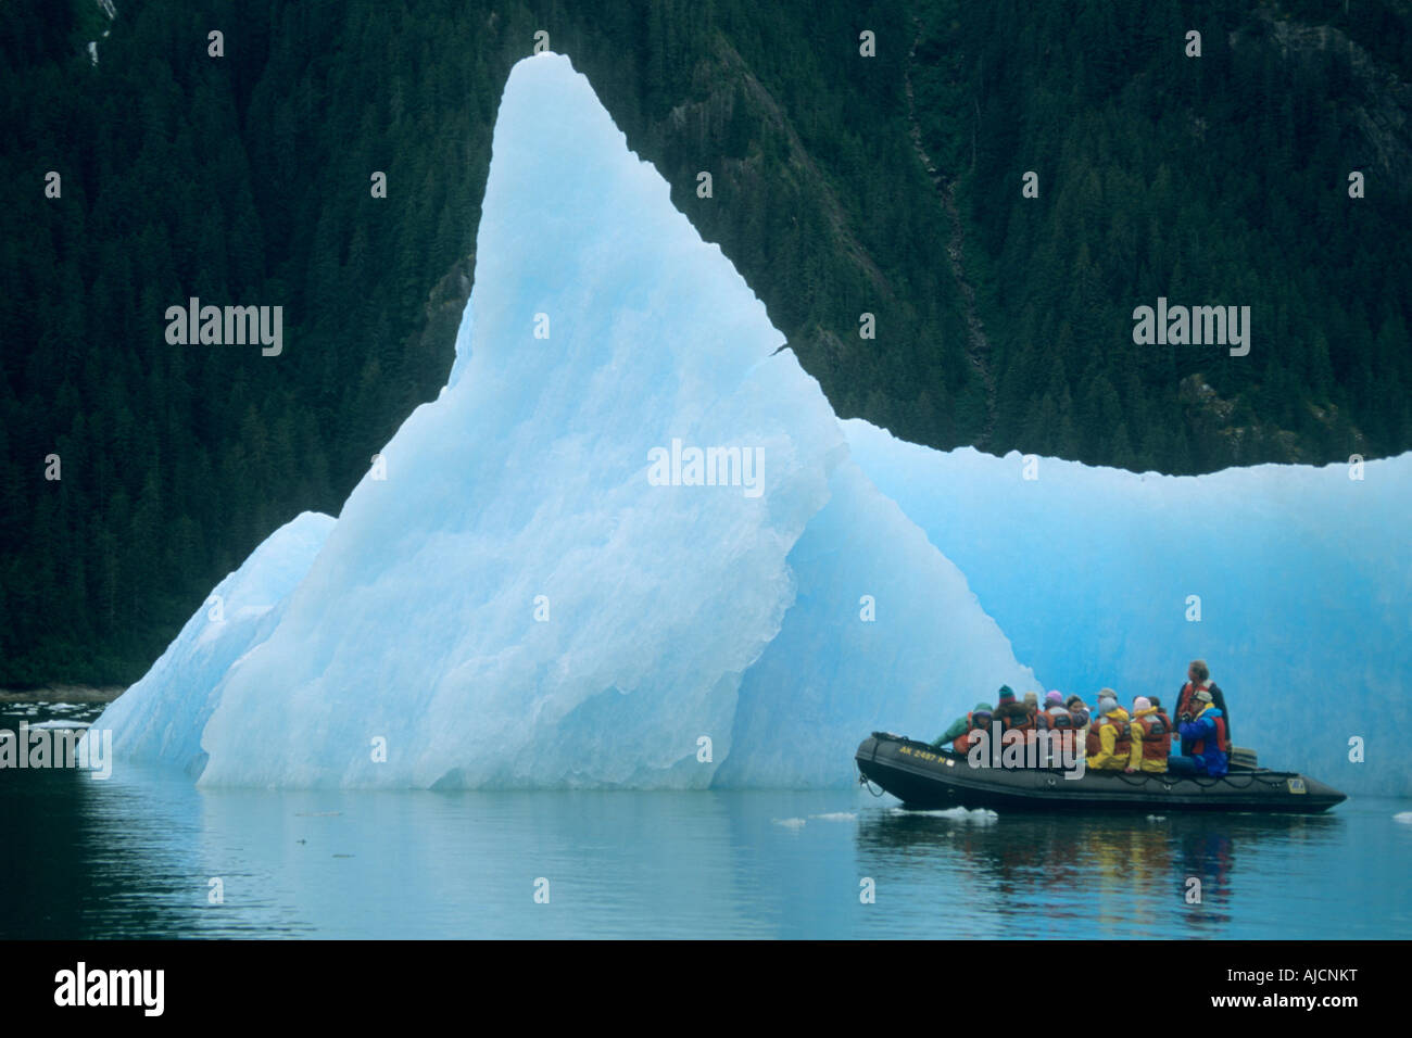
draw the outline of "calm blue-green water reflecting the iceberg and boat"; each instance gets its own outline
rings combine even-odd
[[[96,713],[0,705],[0,727]],[[1412,825],[1394,818],[1412,801],[1067,821],[895,804],[198,791],[131,768],[4,770],[0,936],[1412,936]],[[1192,876],[1199,905],[1183,897]],[[208,901],[212,877],[223,904]]]

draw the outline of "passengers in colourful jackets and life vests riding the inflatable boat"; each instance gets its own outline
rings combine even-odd
[[[1172,717],[1176,717],[1173,724]],[[1022,733],[1027,743],[1036,743],[1041,732],[1053,733],[1048,744],[1051,760],[1083,758],[1084,767],[1097,771],[1171,772],[1176,775],[1224,775],[1230,767],[1231,729],[1226,695],[1211,681],[1204,660],[1193,660],[1186,669],[1186,684],[1171,713],[1158,696],[1135,696],[1132,710],[1118,705],[1118,693],[1100,689],[1097,705],[1089,708],[1083,696],[1067,699],[1058,691],[1043,702],[1038,692],[1017,699],[1008,685],[1001,685],[995,706],[976,703],[964,717],[952,722],[932,740],[933,748],[947,743],[957,753],[967,753],[984,732]],[[1173,736],[1178,753],[1172,753]],[[1014,743],[1015,739],[1005,741]]]

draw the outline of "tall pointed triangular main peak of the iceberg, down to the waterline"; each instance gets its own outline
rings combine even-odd
[[[562,56],[510,76],[476,257],[446,391],[226,681],[203,782],[840,784],[875,717],[1022,674]],[[758,452],[762,493],[651,484],[674,441]],[[923,575],[909,626],[860,617]]]

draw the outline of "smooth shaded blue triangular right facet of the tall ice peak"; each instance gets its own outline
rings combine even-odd
[[[717,785],[826,785],[868,732],[931,739],[1001,684],[1038,688],[960,571],[857,465],[832,491],[789,554],[799,593],[741,681]]]

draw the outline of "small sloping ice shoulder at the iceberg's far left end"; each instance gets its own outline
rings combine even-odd
[[[332,528],[329,515],[306,511],[270,534],[216,585],[143,679],[93,722],[95,730],[113,730],[114,757],[199,772],[201,732],[222,678],[274,628],[280,603],[309,571]]]

